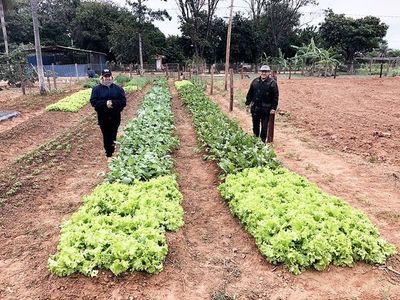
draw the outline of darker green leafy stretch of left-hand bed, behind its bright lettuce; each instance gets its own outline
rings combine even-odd
[[[168,154],[178,145],[173,135],[171,94],[164,82],[156,81],[146,94],[135,120],[124,129],[120,152],[110,165],[110,182],[132,183],[171,174],[173,162]]]

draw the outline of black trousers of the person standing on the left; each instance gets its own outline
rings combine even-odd
[[[121,114],[98,114],[97,117],[101,133],[103,134],[103,144],[106,156],[111,157],[115,150],[118,127],[121,123]]]

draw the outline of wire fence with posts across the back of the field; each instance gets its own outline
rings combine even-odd
[[[240,78],[254,78],[258,74],[259,65],[249,63],[232,63],[229,68],[235,74],[240,74]],[[273,71],[280,76],[291,77],[330,77],[334,76],[379,76],[393,77],[400,76],[400,58],[399,59],[381,59],[374,61],[356,60],[351,66],[336,65],[334,70],[323,70],[313,68],[313,66],[291,67],[271,65]],[[69,65],[44,65],[44,75],[47,88],[63,89],[71,87],[81,80],[91,77],[101,76],[101,71],[109,68],[114,75],[125,74],[130,77],[136,75],[145,76],[166,76],[173,79],[192,79],[195,76],[210,76],[213,73],[216,78],[224,77],[225,64],[178,64],[167,63],[157,65],[144,64],[141,72],[138,64],[69,64]],[[11,86],[21,88],[25,93],[26,89],[37,85],[37,67],[33,65],[0,65],[0,87]]]

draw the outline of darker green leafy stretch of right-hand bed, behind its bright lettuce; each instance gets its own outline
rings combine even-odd
[[[278,165],[272,149],[246,134],[204,95],[200,87],[179,82],[175,85],[193,115],[199,140],[208,151],[207,158],[216,160],[225,174]]]

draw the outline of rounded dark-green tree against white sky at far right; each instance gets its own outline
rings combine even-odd
[[[351,71],[356,53],[378,48],[387,29],[388,26],[377,17],[353,19],[329,9],[319,33],[325,47],[336,48],[343,54]]]

